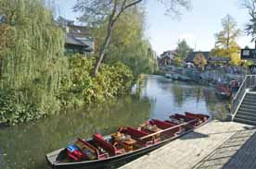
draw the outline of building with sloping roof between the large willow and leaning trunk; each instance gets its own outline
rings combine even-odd
[[[73,20],[62,17],[58,18],[58,24],[66,32],[66,54],[91,54],[94,52],[95,42],[87,27],[75,25]]]

